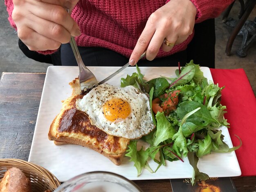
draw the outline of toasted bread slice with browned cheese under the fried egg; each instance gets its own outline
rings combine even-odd
[[[73,94],[77,94],[74,80]],[[56,145],[76,144],[88,147],[108,157],[116,165],[120,165],[126,152],[129,139],[108,135],[90,122],[88,114],[76,109],[76,100],[82,95],[67,98],[62,105],[61,112],[52,122],[48,137]]]

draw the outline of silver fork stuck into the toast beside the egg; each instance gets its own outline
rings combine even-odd
[[[70,45],[76,58],[76,62],[79,66],[79,82],[81,92],[82,94],[87,94],[90,92],[90,90],[92,90],[92,88],[98,86],[98,81],[94,74],[87,67],[85,67],[73,36],[71,36]]]

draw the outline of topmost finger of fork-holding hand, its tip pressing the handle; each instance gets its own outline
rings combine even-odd
[[[32,14],[62,25],[72,36],[79,36],[81,34],[79,26],[63,7],[47,3],[38,3],[36,6],[38,9],[32,9]],[[43,6],[44,9],[40,6]]]

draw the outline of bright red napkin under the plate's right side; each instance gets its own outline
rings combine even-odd
[[[227,106],[229,134],[236,150],[242,176],[256,176],[256,97],[243,69],[210,69],[214,83],[222,89],[221,104]]]

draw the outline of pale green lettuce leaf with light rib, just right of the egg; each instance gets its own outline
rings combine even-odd
[[[164,115],[164,112],[157,112],[155,117],[157,120],[157,130],[155,134],[154,146],[157,146],[162,141],[172,138],[176,131]]]

